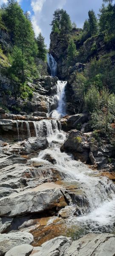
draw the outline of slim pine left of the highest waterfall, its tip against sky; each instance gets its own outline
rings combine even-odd
[[[47,49],[46,49],[46,44],[44,42],[44,37],[42,36],[41,33],[37,37],[37,47],[38,47],[37,57],[41,58],[43,61],[46,61]]]

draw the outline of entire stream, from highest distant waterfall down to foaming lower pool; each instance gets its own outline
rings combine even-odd
[[[51,61],[50,69],[52,75],[57,66],[53,62],[53,57],[49,56]],[[35,159],[38,162],[47,162],[44,160],[46,154],[50,154],[55,159],[55,167],[61,173],[63,182],[69,186],[78,186],[81,191],[81,202],[78,207],[78,216],[74,215],[75,204],[70,207],[73,214],[66,220],[67,226],[76,226],[83,229],[83,233],[90,232],[114,232],[115,225],[115,184],[107,177],[98,175],[98,171],[89,169],[85,164],[73,159],[71,154],[60,152],[60,145],[66,139],[66,133],[61,131],[60,117],[66,114],[65,111],[65,93],[66,81],[58,81],[57,95],[58,108],[52,112],[55,120],[44,120],[38,122],[36,126],[37,135],[43,137],[43,122],[46,125],[47,139],[49,148],[40,151]],[[58,122],[58,123],[57,123]],[[86,201],[86,204],[83,202]]]

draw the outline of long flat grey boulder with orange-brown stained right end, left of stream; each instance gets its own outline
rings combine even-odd
[[[0,216],[19,216],[42,212],[54,207],[65,207],[65,189],[55,183],[44,183],[32,189],[0,198]]]

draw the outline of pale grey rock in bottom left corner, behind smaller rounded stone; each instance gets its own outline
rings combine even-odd
[[[32,244],[33,241],[34,239],[32,234],[26,232],[0,234],[0,256],[5,255],[8,250],[15,246]],[[11,254],[8,255],[11,256]]]

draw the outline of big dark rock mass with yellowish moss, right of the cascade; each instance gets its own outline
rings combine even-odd
[[[72,117],[74,119],[74,116]],[[105,142],[106,143],[106,142]],[[70,152],[75,160],[91,164],[98,168],[110,168],[109,157],[114,157],[114,147],[112,145],[100,145],[93,133],[82,133],[72,130],[61,146],[61,151]]]

